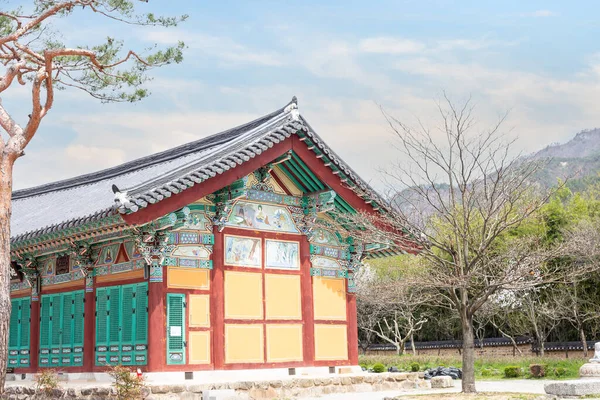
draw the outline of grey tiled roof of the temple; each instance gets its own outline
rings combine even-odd
[[[375,191],[300,116],[294,98],[279,110],[224,132],[116,167],[13,192],[11,241],[137,212],[217,177],[299,132],[331,161],[330,168],[382,204]],[[115,200],[112,185],[124,195],[120,201]]]

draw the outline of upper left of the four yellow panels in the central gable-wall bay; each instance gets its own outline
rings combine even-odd
[[[225,318],[263,318],[261,273],[225,271]]]

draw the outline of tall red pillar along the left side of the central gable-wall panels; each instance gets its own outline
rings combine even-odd
[[[225,364],[225,294],[224,294],[224,237],[214,227],[213,269],[210,282],[210,325],[212,327],[212,362],[214,369],[223,369]]]

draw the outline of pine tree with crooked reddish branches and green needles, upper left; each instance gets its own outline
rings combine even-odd
[[[175,26],[182,17],[136,13],[139,0],[32,0],[30,7],[0,10],[1,100],[16,85],[28,86],[31,110],[26,121],[14,119],[10,105],[0,100],[0,391],[4,388],[10,319],[10,216],[13,166],[24,155],[41,121],[54,104],[56,90],[75,88],[103,102],[137,101],[148,95],[144,83],[152,68],[182,60],[183,43],[138,53],[124,51],[112,37],[97,45],[70,46],[53,30],[58,18],[85,15],[126,24]],[[110,36],[111,32],[107,32]],[[75,38],[73,38],[75,39]],[[81,38],[77,38],[79,40]],[[90,38],[92,40],[92,38]]]

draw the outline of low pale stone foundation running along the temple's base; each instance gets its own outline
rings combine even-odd
[[[239,399],[274,399],[295,396],[320,396],[330,393],[376,392],[383,390],[411,390],[431,387],[423,379],[423,373],[382,373],[321,378],[294,378],[288,380],[232,382],[213,384],[174,384],[148,386],[144,389],[147,400],[201,400],[202,393],[210,390],[235,390]],[[35,395],[31,386],[7,386],[2,399],[44,399]],[[110,387],[57,389],[50,398],[75,399],[116,399]]]

